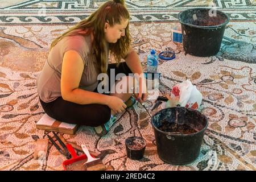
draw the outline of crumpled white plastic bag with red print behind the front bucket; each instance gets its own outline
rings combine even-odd
[[[190,107],[191,109],[198,109],[203,100],[202,94],[197,90],[191,81],[186,80],[172,88],[171,96],[168,98],[166,107],[175,107],[180,105],[182,107]]]

